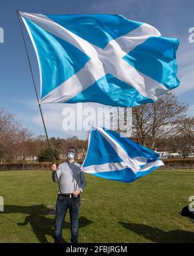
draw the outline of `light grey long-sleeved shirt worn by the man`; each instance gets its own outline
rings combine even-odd
[[[86,185],[85,176],[83,172],[80,172],[78,177],[79,169],[80,169],[80,165],[76,162],[74,163],[65,162],[59,165],[58,169],[56,170],[56,174],[58,175],[59,185],[61,187],[62,194],[70,194],[75,192],[78,189],[81,192],[83,192],[83,189]],[[52,172],[52,180],[54,182],[57,181],[56,174],[55,172]],[[77,184],[77,180],[78,180],[78,184]]]

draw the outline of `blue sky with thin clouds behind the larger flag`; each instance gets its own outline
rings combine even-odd
[[[17,118],[34,131],[34,135],[44,134],[44,130],[21,37],[17,9],[42,14],[122,14],[128,19],[153,25],[162,36],[178,38],[180,46],[177,52],[177,64],[180,87],[175,89],[175,93],[181,102],[189,104],[188,115],[194,116],[194,43],[188,41],[188,30],[194,27],[193,0],[3,0],[0,6],[0,27],[5,33],[5,42],[0,44],[0,106],[16,113]],[[26,38],[36,85],[39,87],[36,56],[28,36]],[[48,135],[85,137],[85,132],[67,134],[63,131],[61,123],[65,105],[67,106],[67,104],[42,106]]]

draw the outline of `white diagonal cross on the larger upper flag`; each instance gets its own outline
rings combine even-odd
[[[156,89],[167,91],[165,86],[140,73],[123,59],[136,45],[143,43],[150,36],[160,36],[160,32],[151,25],[143,23],[124,36],[109,41],[106,47],[102,49],[80,38],[47,16],[24,12],[21,13],[21,16],[28,17],[42,29],[71,43],[91,58],[78,73],[45,95],[41,102],[66,102],[108,73],[134,87],[141,95],[150,99],[156,100]],[[30,29],[25,19],[23,21],[33,43]],[[34,47],[36,47],[35,43]]]

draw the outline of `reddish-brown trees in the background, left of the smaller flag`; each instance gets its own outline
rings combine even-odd
[[[54,160],[65,158],[70,145],[87,150],[87,141],[79,140],[73,136],[68,139],[51,137],[49,139]],[[33,132],[23,127],[16,119],[16,115],[8,113],[4,108],[0,108],[0,160],[16,161],[21,159],[23,165],[27,158],[38,161],[51,161],[48,150],[47,138],[45,135],[33,137]]]

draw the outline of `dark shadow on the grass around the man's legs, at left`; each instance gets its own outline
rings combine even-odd
[[[6,218],[5,213],[23,213],[28,216],[21,223],[17,223],[10,218],[6,218],[11,222],[15,222],[17,226],[27,227],[28,223],[32,227],[34,235],[41,243],[47,243],[46,235],[50,235],[54,239],[54,218],[47,218],[47,215],[54,215],[54,209],[47,208],[44,204],[30,205],[30,206],[20,206],[20,205],[5,205],[5,211],[0,213],[0,217]],[[81,216],[79,220],[80,227],[85,227],[91,224],[91,220]],[[64,222],[63,229],[70,229],[70,224]],[[31,230],[31,229],[30,229]],[[11,232],[11,231],[10,231]],[[63,240],[63,242],[66,242]]]

